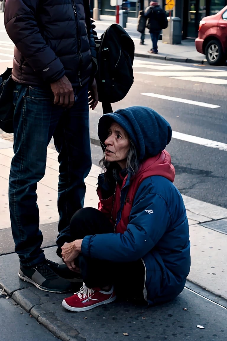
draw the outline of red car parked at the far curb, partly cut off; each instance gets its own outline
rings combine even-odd
[[[221,65],[227,60],[227,6],[200,20],[195,47],[206,55],[210,65]]]

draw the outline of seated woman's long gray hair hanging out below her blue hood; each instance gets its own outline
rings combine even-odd
[[[129,148],[129,152],[128,152],[128,156],[127,156],[127,163],[126,163],[126,168],[128,173],[130,173],[131,175],[134,175],[138,168],[139,168],[139,164],[138,164],[138,160],[137,160],[137,153],[136,153],[136,149],[135,149],[135,145],[133,143],[133,141],[131,140],[131,138],[129,139],[130,141],[130,148]],[[107,170],[110,170],[110,168],[115,168],[114,165],[115,162],[108,162],[105,159],[105,154],[103,155],[103,158],[99,161],[99,165],[103,165],[103,168]]]

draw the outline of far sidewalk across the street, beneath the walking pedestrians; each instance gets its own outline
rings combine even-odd
[[[100,20],[95,21],[98,36],[106,30],[111,24],[116,22],[115,16],[100,15]],[[140,33],[136,31],[137,18],[128,18],[125,30],[129,33],[135,44],[135,57],[155,58],[168,61],[189,62],[189,63],[207,63],[205,55],[196,51],[194,39],[182,40],[181,44],[171,45],[163,44],[161,40],[158,42],[158,55],[149,54],[147,51],[151,49],[152,43],[148,29],[145,33],[145,44],[140,45]]]

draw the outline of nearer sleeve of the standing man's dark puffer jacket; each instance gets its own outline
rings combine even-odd
[[[34,71],[50,83],[64,76],[60,59],[42,37],[36,21],[39,0],[6,0],[5,29]]]

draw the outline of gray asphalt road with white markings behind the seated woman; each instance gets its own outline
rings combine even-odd
[[[133,69],[134,84],[125,99],[113,104],[113,110],[144,105],[162,115],[171,124],[175,135],[183,134],[181,139],[172,138],[166,148],[176,170],[175,185],[182,194],[227,208],[227,145],[221,145],[227,143],[226,67],[136,58]],[[143,93],[151,93],[152,97]],[[195,103],[182,103],[184,100]],[[219,107],[209,107],[212,105]],[[94,139],[97,139],[97,123],[101,115],[99,103],[90,115],[91,137]],[[189,135],[193,136],[192,142],[188,142]],[[212,141],[219,143],[218,148],[206,146],[212,145]],[[101,148],[92,144],[93,163],[98,164],[101,153]]]

